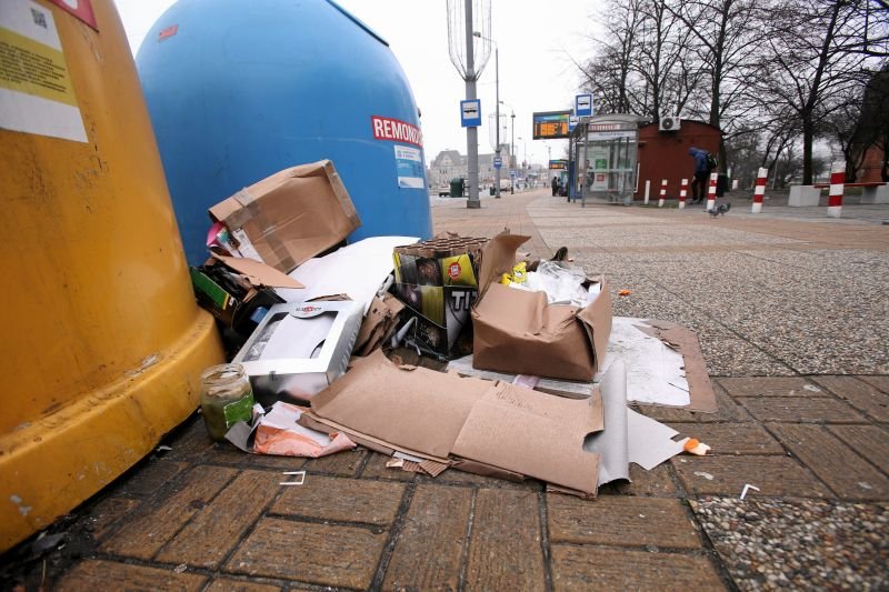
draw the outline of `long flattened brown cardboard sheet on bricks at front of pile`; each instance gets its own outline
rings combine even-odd
[[[397,367],[377,351],[311,402],[306,415],[351,435],[430,460],[470,461],[585,495],[599,455],[583,451],[602,429],[601,400],[562,399],[501,382]]]

